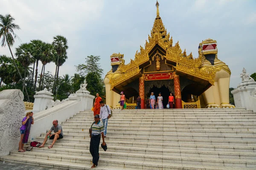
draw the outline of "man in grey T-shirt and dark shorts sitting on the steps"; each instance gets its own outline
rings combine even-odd
[[[53,134],[52,133],[52,130],[54,131]],[[53,144],[58,140],[58,139],[62,139],[63,138],[63,132],[62,132],[62,127],[61,125],[58,124],[58,120],[54,120],[52,122],[52,127],[51,129],[49,130],[49,132],[46,134],[45,138],[44,138],[44,143],[39,146],[39,147],[44,147],[44,144],[47,142],[47,138],[48,136],[50,136],[49,139],[53,139],[52,141],[52,144],[50,146],[48,146],[48,148],[52,148],[53,147]]]

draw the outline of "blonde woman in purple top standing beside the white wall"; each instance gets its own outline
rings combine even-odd
[[[25,152],[24,144],[28,142],[30,127],[33,124],[33,112],[26,113],[26,116],[22,120],[22,126],[20,127],[19,152]]]

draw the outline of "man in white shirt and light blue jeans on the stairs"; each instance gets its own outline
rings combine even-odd
[[[99,118],[102,119],[102,124],[104,125],[104,137],[106,137],[107,134],[107,126],[108,126],[108,119],[110,118],[111,111],[108,105],[105,105],[103,101],[100,101],[99,104],[101,105],[100,112],[99,112]]]

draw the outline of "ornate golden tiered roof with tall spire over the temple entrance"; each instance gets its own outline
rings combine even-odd
[[[151,30],[151,35],[148,35],[148,40],[145,42],[145,47],[140,46],[140,52],[136,51],[135,59],[131,59],[131,62],[127,65],[120,65],[120,74],[117,77],[110,79],[111,90],[122,82],[131,79],[131,77],[140,75],[140,65],[149,61],[149,53],[153,48],[158,45],[165,51],[167,60],[175,62],[177,72],[197,77],[199,79],[207,80],[214,85],[215,74],[211,71],[201,71],[199,66],[201,65],[201,57],[193,59],[192,53],[189,56],[186,55],[186,51],[182,53],[179,42],[172,46],[172,37],[167,34],[166,28],[163,25],[163,21],[159,15],[159,3],[156,3],[157,17],[154,20],[154,26]],[[159,48],[157,47],[157,48]],[[185,54],[185,55],[184,55]]]

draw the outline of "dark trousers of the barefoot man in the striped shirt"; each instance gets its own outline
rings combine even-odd
[[[100,143],[100,136],[97,135],[96,137],[93,137],[90,140],[90,153],[93,156],[93,164],[98,166],[99,161],[99,143]]]

